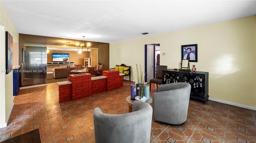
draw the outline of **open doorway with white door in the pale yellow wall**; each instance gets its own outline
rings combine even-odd
[[[160,54],[160,44],[147,44],[145,45],[145,82],[155,78],[156,73],[156,57]]]

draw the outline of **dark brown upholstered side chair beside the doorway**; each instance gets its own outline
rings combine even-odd
[[[163,81],[163,70],[166,70],[167,66],[157,66],[156,67],[156,78],[152,78],[149,80],[149,90],[151,91],[151,83],[155,83],[156,87],[158,88],[157,84],[162,84]]]

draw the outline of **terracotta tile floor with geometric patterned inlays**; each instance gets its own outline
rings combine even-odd
[[[0,142],[38,128],[42,143],[94,143],[93,110],[128,112],[130,84],[73,102],[58,102],[58,85],[22,89],[14,98],[8,126]],[[153,85],[150,96],[156,92]],[[190,100],[188,118],[181,126],[152,119],[151,143],[256,143],[256,111],[208,100]]]

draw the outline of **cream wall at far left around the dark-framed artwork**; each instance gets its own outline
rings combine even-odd
[[[6,126],[6,119],[13,105],[13,76],[12,72],[5,74],[5,31],[8,31],[13,42],[18,43],[18,31],[0,1],[0,128]],[[15,65],[14,65],[15,66]],[[3,71],[3,72],[2,72]]]

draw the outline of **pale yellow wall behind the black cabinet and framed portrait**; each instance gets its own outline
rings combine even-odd
[[[210,98],[256,107],[256,16],[110,43],[110,67],[131,65],[135,81],[144,45],[152,43],[160,43],[160,65],[168,69],[180,68],[181,45],[198,44],[198,62],[191,65],[209,72]]]

